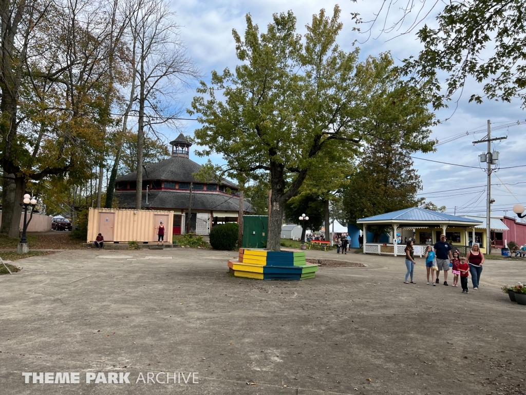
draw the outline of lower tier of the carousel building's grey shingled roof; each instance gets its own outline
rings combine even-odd
[[[115,192],[119,208],[135,208],[135,192]],[[146,204],[146,191],[143,192],[143,208],[188,209],[189,192],[150,191]],[[243,202],[245,212],[254,212],[247,201]],[[196,192],[192,197],[193,210],[239,211],[239,197],[221,193]]]

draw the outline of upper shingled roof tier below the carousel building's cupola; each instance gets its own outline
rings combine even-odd
[[[187,157],[172,156],[164,161],[154,163],[147,166],[146,169],[143,169],[143,181],[168,180],[198,182],[192,173],[197,172],[201,167],[200,164],[191,161]],[[116,181],[135,181],[136,179],[137,172],[133,172],[117,177]],[[235,187],[237,189],[237,185],[228,180],[223,180],[221,184]]]

